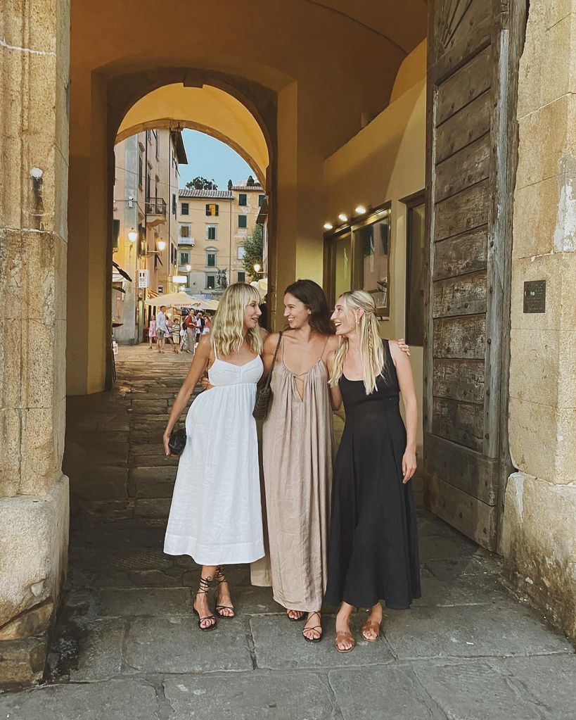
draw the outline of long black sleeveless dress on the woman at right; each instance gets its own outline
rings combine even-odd
[[[420,597],[418,532],[411,482],[402,483],[406,428],[387,340],[378,392],[339,382],[346,423],[334,467],[325,602],[395,610]]]

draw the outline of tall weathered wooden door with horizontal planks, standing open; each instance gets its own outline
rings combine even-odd
[[[525,9],[430,7],[424,502],[497,549],[506,433],[516,78]]]

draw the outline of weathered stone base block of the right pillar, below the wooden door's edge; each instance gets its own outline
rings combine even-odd
[[[576,639],[576,487],[523,472],[506,487],[503,554],[521,593]]]

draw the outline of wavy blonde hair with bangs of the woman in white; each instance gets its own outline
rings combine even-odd
[[[256,325],[247,333],[244,330],[244,309],[254,300],[260,302],[260,293],[245,282],[234,283],[224,290],[210,332],[219,355],[227,357],[238,352],[244,339],[255,355],[262,354],[260,327]]]

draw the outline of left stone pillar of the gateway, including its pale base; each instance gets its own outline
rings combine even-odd
[[[68,546],[69,0],[7,0],[0,53],[0,684],[40,678]]]

